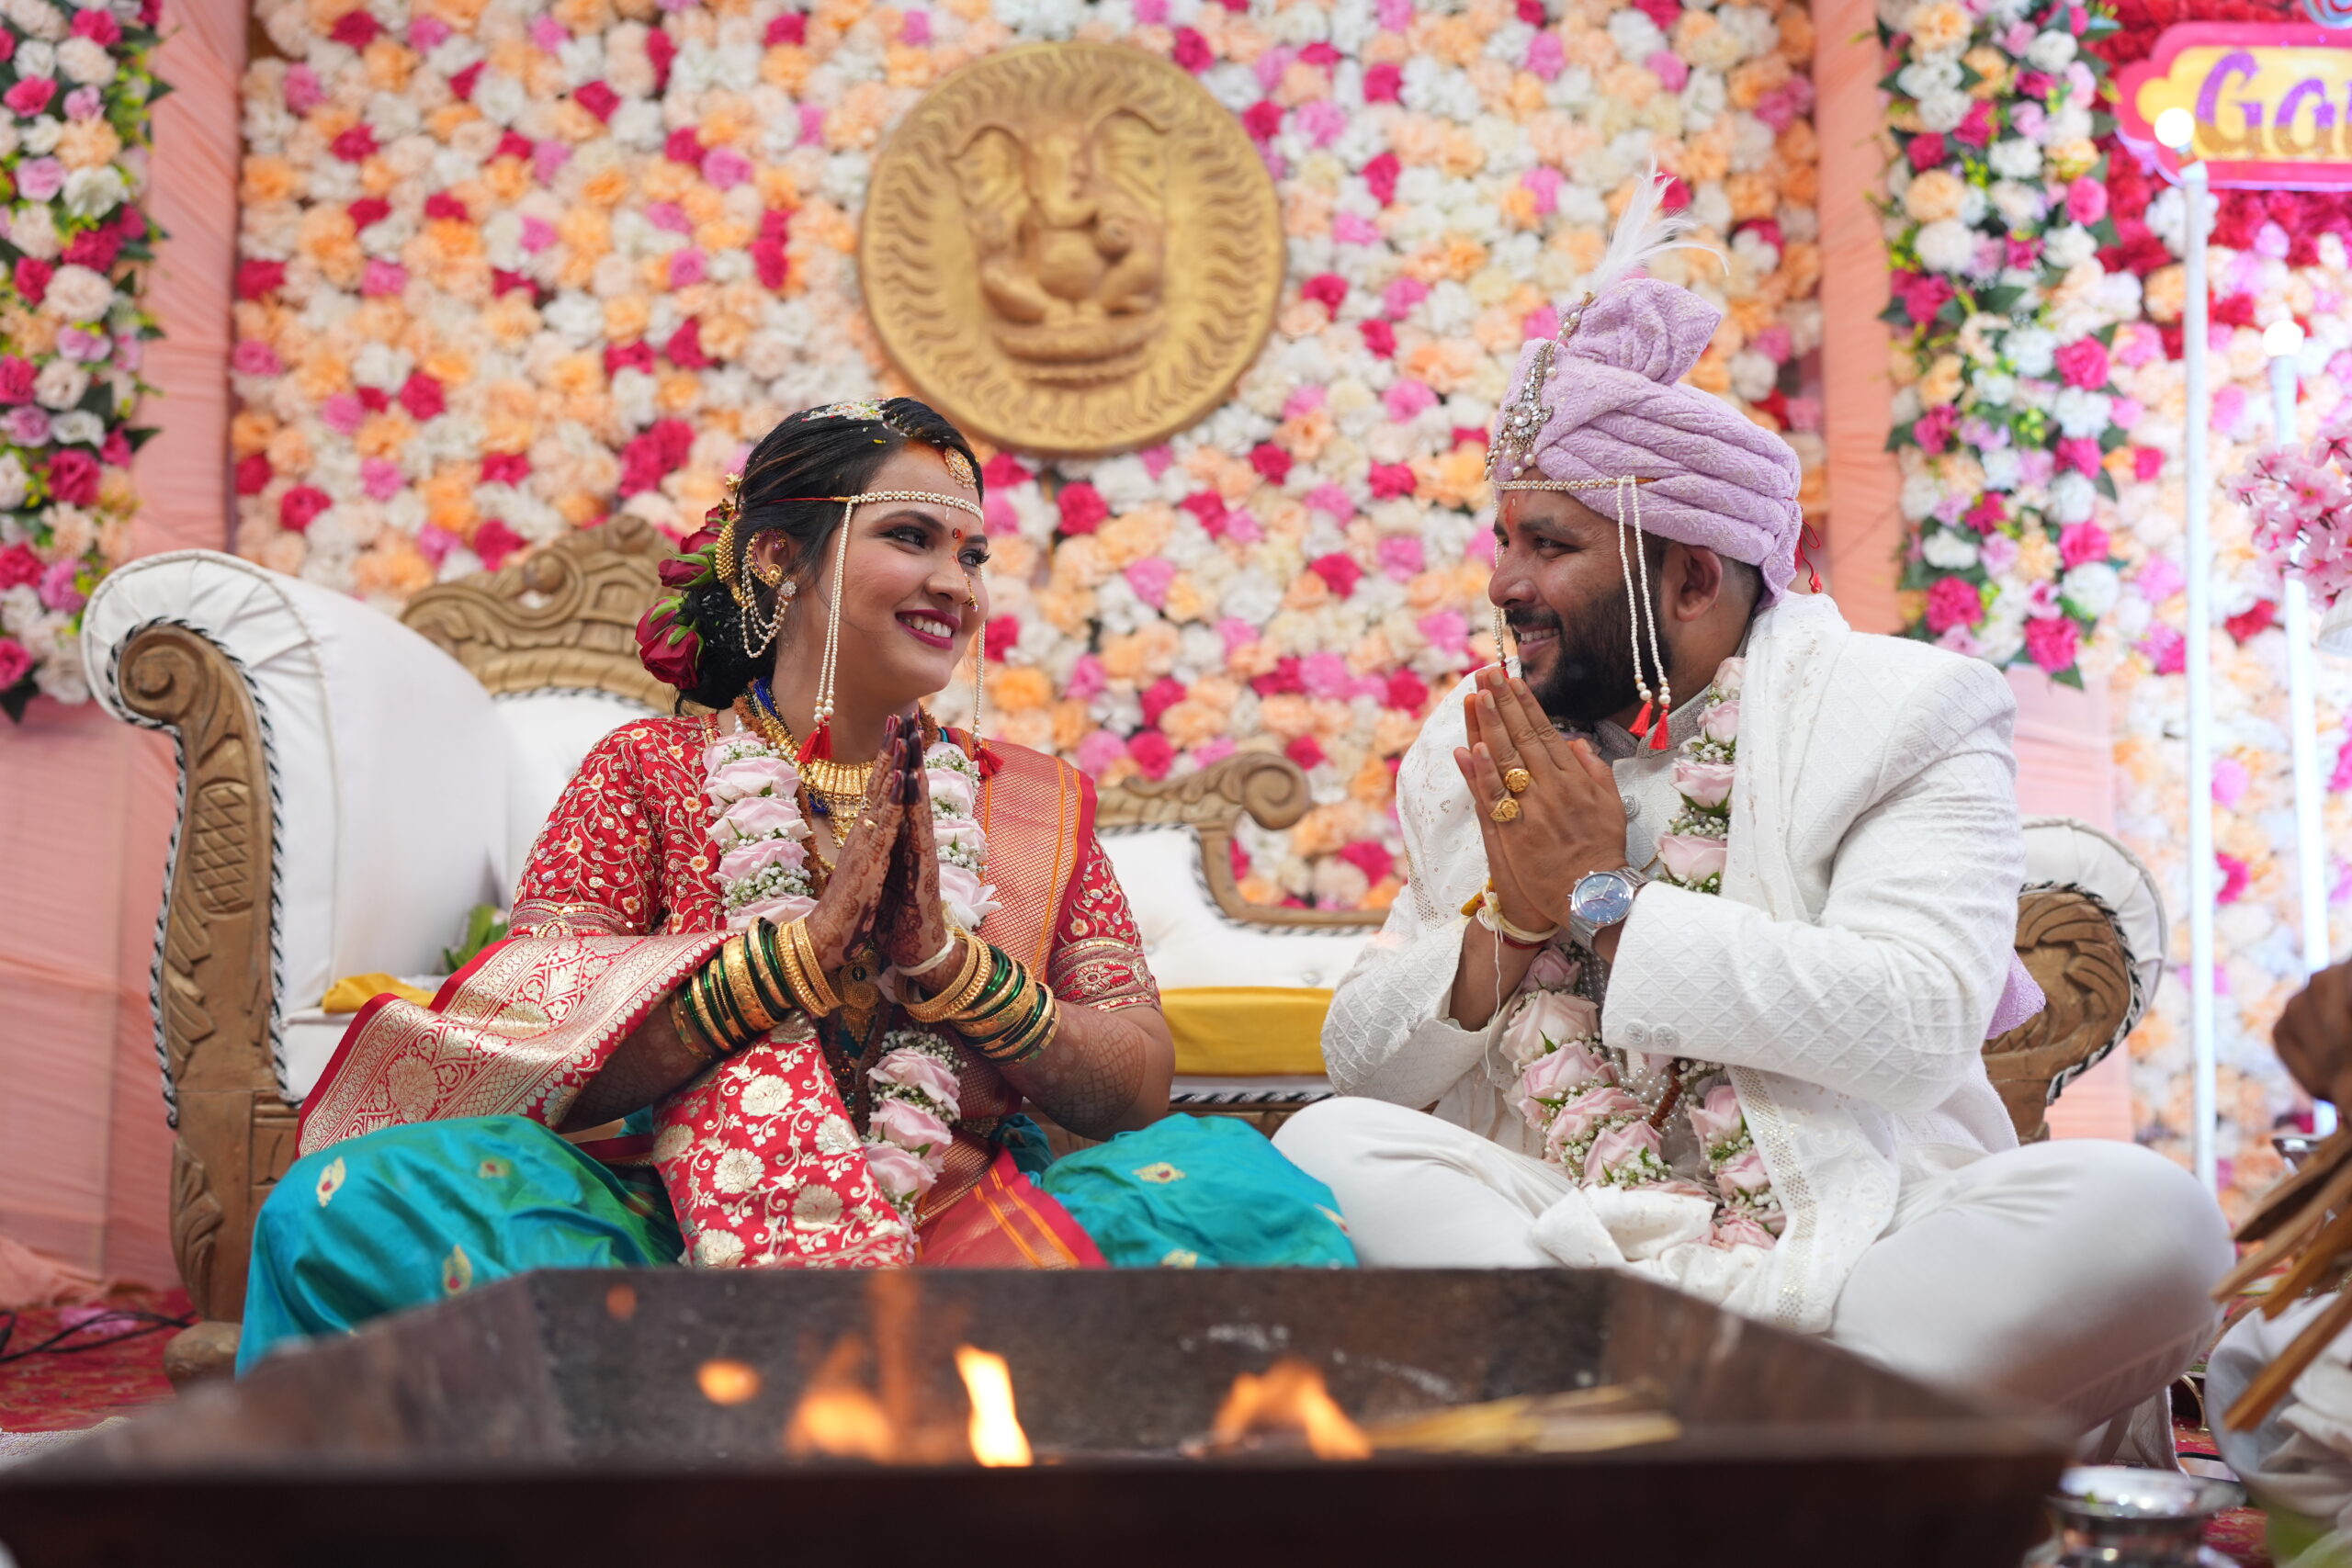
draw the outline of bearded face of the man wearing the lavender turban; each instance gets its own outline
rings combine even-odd
[[[1606,494],[1606,491],[1595,491]],[[1494,524],[1494,578],[1486,595],[1503,607],[1519,668],[1536,701],[1555,719],[1592,724],[1630,715],[1642,703],[1635,684],[1632,607],[1625,564],[1642,578],[1642,562],[1621,555],[1618,524],[1559,491],[1505,491]],[[1625,529],[1623,545],[1642,545],[1656,590],[1665,541]],[[1672,663],[1668,625],[1658,651]],[[1644,632],[1642,672],[1651,686],[1658,668]]]

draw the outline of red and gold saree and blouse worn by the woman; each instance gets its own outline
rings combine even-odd
[[[713,738],[713,719],[644,719],[588,752],[532,849],[513,936],[430,1006],[376,997],[353,1018],[303,1105],[303,1154],[412,1121],[564,1121],[612,1051],[727,938],[703,792]],[[1094,835],[1091,780],[1025,748],[988,752],[978,816],[1000,907],[981,936],[1063,1001],[1157,1006]],[[971,1051],[938,1182],[910,1215],[884,1199],[844,1093],[861,1048],[840,1016],[816,1030],[793,1018],[663,1098],[652,1135],[583,1147],[654,1164],[689,1260],[710,1267],[1101,1265],[1000,1150],[1021,1095]]]

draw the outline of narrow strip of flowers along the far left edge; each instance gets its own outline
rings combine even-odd
[[[82,682],[82,602],[136,496],[155,320],[146,193],[160,0],[0,0],[0,710]]]

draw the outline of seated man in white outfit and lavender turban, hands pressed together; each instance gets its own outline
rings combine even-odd
[[[1522,675],[1406,755],[1411,882],[1324,1027],[1352,1098],[1277,1145],[1367,1265],[1632,1269],[2126,1418],[2213,1331],[2223,1215],[2147,1150],[2018,1147],[1980,1058],[2042,1004],[2013,698],[1788,592],[1795,454],[1679,386],[1717,317],[1599,282],[1522,353],[1489,449]]]

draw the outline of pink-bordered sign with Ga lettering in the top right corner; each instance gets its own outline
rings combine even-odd
[[[2310,24],[2190,21],[2117,82],[2126,141],[2157,150],[2166,174],[2185,158],[2157,141],[2157,118],[2197,118],[2187,158],[2216,188],[2352,186],[2352,31]]]

